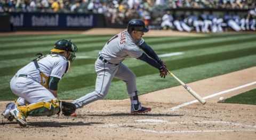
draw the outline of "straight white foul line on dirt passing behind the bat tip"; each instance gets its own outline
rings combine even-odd
[[[224,90],[222,92],[219,92],[219,93],[214,93],[212,95],[209,95],[209,96],[206,96],[206,97],[203,97],[204,99],[207,99],[207,98],[212,98],[212,97],[215,97],[215,96],[218,96],[218,95],[221,95],[221,94],[225,94],[225,93],[228,93],[228,92],[233,92],[234,90],[237,90],[237,89],[240,89],[240,88],[244,88],[244,87],[247,87],[247,86],[251,86],[251,85],[254,85],[256,84],[256,81],[252,82],[252,83],[249,83],[249,84],[245,84],[245,85],[242,85],[242,86],[238,86],[238,87],[235,87],[235,88],[231,88],[231,89],[227,89],[227,90]],[[194,101],[190,101],[190,102],[186,102],[186,103],[183,103],[183,104],[180,104],[178,106],[174,106],[173,108],[171,108],[171,111],[174,111],[174,110],[177,110],[183,106],[187,106],[189,104],[193,104],[193,103],[196,103],[198,102],[197,100],[194,100]]]

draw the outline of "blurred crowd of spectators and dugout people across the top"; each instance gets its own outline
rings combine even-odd
[[[145,20],[150,28],[197,32],[219,32],[225,27],[236,31],[255,30],[255,15],[250,12],[255,7],[255,0],[0,0],[0,12],[100,13],[105,15],[108,23],[113,24],[126,24],[130,19],[137,18]],[[248,12],[237,16],[232,13],[166,12],[167,9],[182,8],[242,9]]]

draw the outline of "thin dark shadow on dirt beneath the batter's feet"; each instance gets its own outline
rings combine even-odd
[[[179,117],[184,116],[183,114],[161,114],[161,113],[155,113],[155,114],[131,114],[131,113],[111,113],[111,114],[86,114],[85,116],[149,116],[149,117]]]

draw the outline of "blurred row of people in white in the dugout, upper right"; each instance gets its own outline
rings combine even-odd
[[[243,14],[212,11],[172,13],[166,11],[161,20],[162,29],[196,32],[223,32],[226,30],[256,30],[256,8]]]

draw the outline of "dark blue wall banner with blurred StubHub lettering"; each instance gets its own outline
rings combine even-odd
[[[105,27],[102,14],[9,13],[12,30],[86,30]]]

